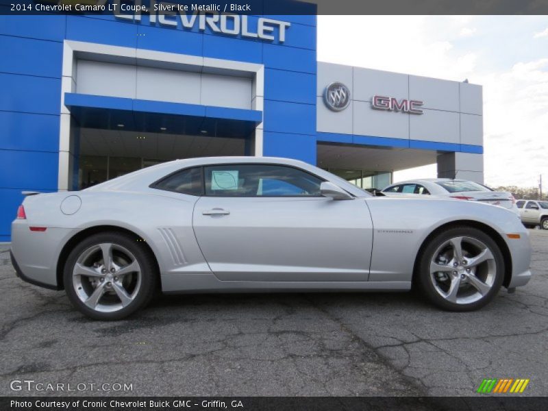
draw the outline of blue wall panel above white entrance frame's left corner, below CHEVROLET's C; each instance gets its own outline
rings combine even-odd
[[[138,25],[134,24],[82,16],[66,17],[66,38],[69,40],[137,47],[137,34]]]

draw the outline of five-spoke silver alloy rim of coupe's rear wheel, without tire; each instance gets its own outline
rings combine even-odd
[[[99,312],[127,307],[138,295],[141,279],[141,267],[135,256],[110,242],[85,249],[73,269],[77,297]]]

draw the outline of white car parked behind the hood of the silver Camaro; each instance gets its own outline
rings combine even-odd
[[[432,178],[414,179],[391,184],[381,190],[388,197],[450,197],[459,200],[482,201],[507,208],[519,215],[516,199],[510,192],[494,191],[483,184],[464,179]]]

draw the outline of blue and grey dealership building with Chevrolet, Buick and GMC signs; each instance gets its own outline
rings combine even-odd
[[[22,190],[177,158],[297,158],[362,188],[434,163],[483,181],[481,86],[318,62],[312,14],[0,16],[0,242]]]

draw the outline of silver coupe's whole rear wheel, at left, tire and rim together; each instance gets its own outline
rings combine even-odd
[[[156,288],[153,256],[134,236],[94,234],[77,245],[64,267],[73,306],[92,319],[119,320],[149,303]]]

